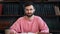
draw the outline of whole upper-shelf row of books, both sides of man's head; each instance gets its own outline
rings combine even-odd
[[[56,11],[58,11],[59,9],[59,7],[54,6],[54,4],[43,3],[35,4],[35,7],[36,7],[35,15],[40,16],[55,15],[55,13],[57,13]],[[0,15],[21,15],[21,16],[24,15],[23,3],[0,4]]]

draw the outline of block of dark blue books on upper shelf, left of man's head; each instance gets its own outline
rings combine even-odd
[[[4,15],[18,15],[19,5],[18,4],[3,4]]]

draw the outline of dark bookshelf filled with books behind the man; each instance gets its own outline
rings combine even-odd
[[[0,32],[9,27],[23,16],[22,5],[32,1],[35,3],[35,15],[41,16],[47,23],[50,32],[60,32],[60,1],[49,0],[3,0],[0,1]],[[38,11],[38,12],[37,12]]]

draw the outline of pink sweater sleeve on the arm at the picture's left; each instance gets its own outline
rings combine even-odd
[[[18,19],[11,27],[10,27],[10,33],[15,32],[21,32],[20,28],[20,19]]]

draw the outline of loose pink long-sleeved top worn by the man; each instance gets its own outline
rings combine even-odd
[[[33,19],[28,20],[25,17],[20,17],[11,27],[13,32],[49,32],[47,24],[39,16],[34,16]]]

